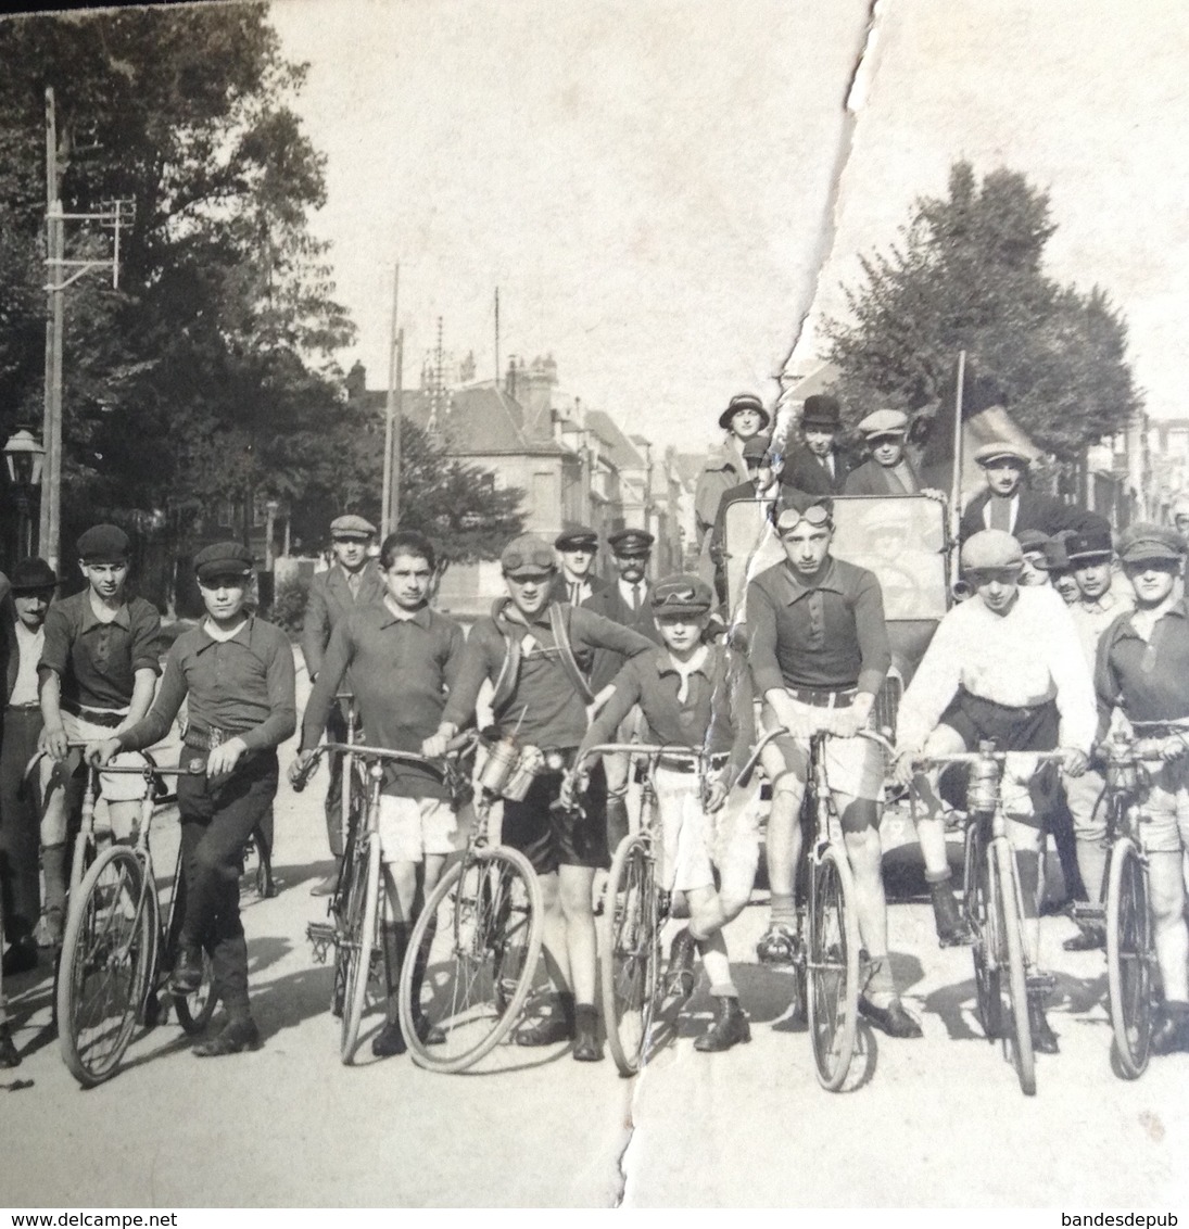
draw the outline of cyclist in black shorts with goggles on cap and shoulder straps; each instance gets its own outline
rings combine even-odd
[[[583,606],[562,603],[551,613],[556,570],[552,548],[523,533],[500,557],[508,596],[480,619],[466,643],[455,688],[425,755],[475,715],[480,688],[494,685],[496,728],[521,745],[547,750],[543,771],[519,801],[504,801],[503,841],[524,853],[541,876],[545,950],[557,988],[558,1014],[516,1034],[521,1045],[547,1046],[574,1039],[574,1058],[602,1057],[595,994],[595,927],[591,889],[596,868],[609,865],[601,769],[591,775],[585,815],[555,809],[563,771],[587,732],[591,694],[575,662],[598,649],[625,658],[655,645]]]

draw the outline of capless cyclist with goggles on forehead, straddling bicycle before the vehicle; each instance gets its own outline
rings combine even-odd
[[[768,928],[756,951],[762,961],[786,964],[800,941],[793,896],[802,844],[798,821],[809,739],[826,730],[835,735],[825,748],[826,772],[855,871],[863,946],[874,968],[859,1010],[890,1036],[918,1037],[921,1026],[904,1009],[888,960],[879,844],[883,763],[875,744],[858,736],[869,724],[891,664],[879,581],[866,568],[830,554],[829,498],[788,492],[776,531],[784,562],[748,586],[751,676],[764,697],[762,720],[770,729],[791,731],[776,740],[776,762],[765,764],[772,778],[767,831],[772,896]]]

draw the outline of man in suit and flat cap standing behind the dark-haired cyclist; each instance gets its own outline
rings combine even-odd
[[[322,669],[334,624],[349,611],[384,599],[384,580],[368,557],[368,547],[375,533],[376,527],[370,521],[354,514],[331,521],[331,552],[334,559],[326,571],[315,574],[310,581],[310,597],[301,628],[301,655],[311,683]],[[347,739],[347,714],[339,703],[331,709],[326,735],[331,742],[343,742]],[[338,887],[338,873],[343,862],[342,791],[343,762],[336,756],[331,760],[331,783],[326,790],[326,837],[334,857],[334,869],[310,889],[311,896],[330,896]]]

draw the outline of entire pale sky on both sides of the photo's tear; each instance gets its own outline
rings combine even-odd
[[[693,451],[799,336],[813,367],[859,254],[968,157],[1050,192],[1050,272],[1110,293],[1150,412],[1180,413],[1189,6],[873,11],[868,43],[867,0],[274,0],[348,361],[385,385],[400,261],[406,386],[439,316],[494,372],[498,286],[502,366],[552,353],[566,391]]]

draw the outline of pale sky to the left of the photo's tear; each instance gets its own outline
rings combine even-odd
[[[771,398],[812,300],[867,4],[275,0],[327,156],[339,297],[387,380],[444,347],[561,385],[691,450]]]

